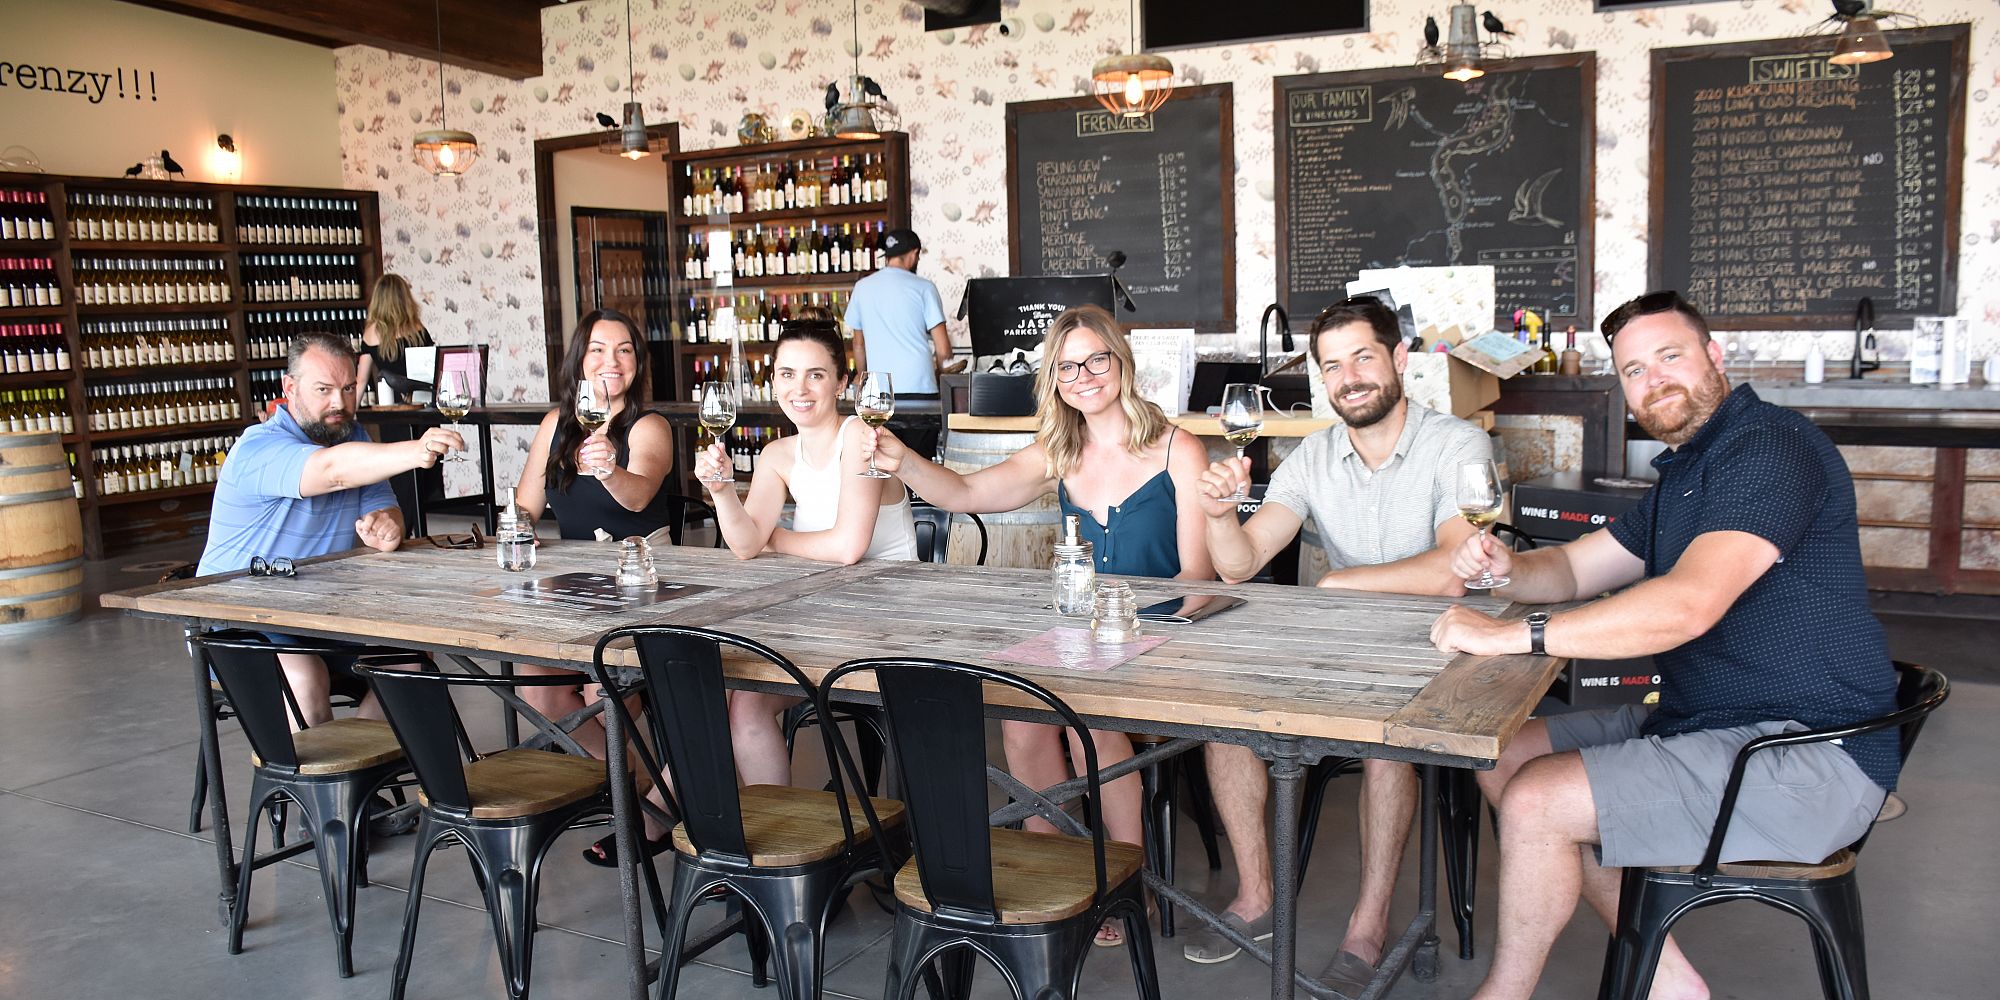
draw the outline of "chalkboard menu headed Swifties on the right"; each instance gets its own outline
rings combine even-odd
[[[1652,54],[1652,288],[1720,330],[1956,310],[1968,26],[1888,32],[1834,66],[1830,36]]]

